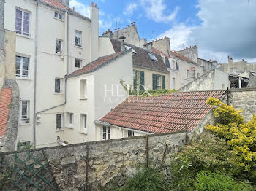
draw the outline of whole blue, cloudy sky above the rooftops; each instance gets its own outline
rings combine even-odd
[[[171,50],[197,45],[199,58],[256,62],[256,0],[94,0],[100,34],[136,22],[140,39],[168,36]],[[91,1],[69,0],[89,17]]]

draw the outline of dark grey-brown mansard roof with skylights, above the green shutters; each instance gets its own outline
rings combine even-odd
[[[113,45],[113,49],[115,50],[115,52],[116,53],[120,52],[121,51],[121,41],[118,41],[117,39],[111,39],[111,38],[110,38],[110,41]],[[133,54],[133,56],[132,56],[133,66],[138,66],[138,67],[142,67],[142,68],[146,68],[146,69],[152,69],[155,71],[162,71],[165,73],[169,73],[161,55],[156,54],[154,52],[149,52],[146,49],[136,47],[132,44],[124,43],[124,45],[132,47],[132,49],[135,50],[135,52],[137,52],[136,54]],[[154,54],[157,58],[157,61],[152,61],[151,58],[149,57],[148,53]]]

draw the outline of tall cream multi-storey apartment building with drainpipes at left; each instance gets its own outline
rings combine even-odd
[[[9,0],[4,4],[4,28],[17,34],[19,143],[56,144],[56,136],[63,133],[56,124],[63,122],[59,114],[67,100],[65,76],[98,58],[97,5],[91,4],[90,18],[68,5],[67,0]],[[46,114],[47,123],[43,121]]]

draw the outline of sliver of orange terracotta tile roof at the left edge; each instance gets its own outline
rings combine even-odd
[[[11,103],[12,88],[1,90],[0,97],[0,138],[4,136],[7,131],[7,120],[9,115],[9,104]]]

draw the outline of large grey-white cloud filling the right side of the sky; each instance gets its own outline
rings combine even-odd
[[[256,1],[199,0],[200,25],[176,24],[158,37],[169,36],[170,47],[176,50],[197,44],[200,58],[227,62],[230,55],[256,61],[255,7]]]

